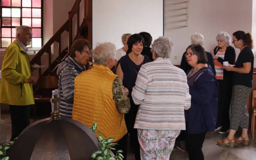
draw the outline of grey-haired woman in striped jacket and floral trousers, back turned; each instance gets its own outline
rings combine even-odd
[[[138,129],[142,160],[169,160],[175,139],[185,130],[184,109],[190,108],[185,72],[170,61],[172,40],[160,37],[152,44],[154,61],[141,66],[132,99],[140,105]]]

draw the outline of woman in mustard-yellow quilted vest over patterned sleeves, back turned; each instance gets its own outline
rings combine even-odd
[[[130,99],[128,89],[110,70],[115,64],[115,53],[113,43],[97,45],[92,52],[92,69],[76,76],[72,119],[88,127],[97,122],[98,130],[118,141],[127,133],[124,113],[130,110]]]

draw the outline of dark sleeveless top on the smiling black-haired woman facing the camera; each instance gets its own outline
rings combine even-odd
[[[150,59],[148,56],[144,55],[144,60],[140,65],[136,65],[132,59],[127,55],[124,55],[121,57],[117,63],[117,66],[120,63],[120,67],[124,73],[124,78],[123,78],[123,85],[129,90],[129,98],[130,100],[132,99],[132,87],[135,86],[135,82],[137,79],[138,72],[140,71],[141,65],[150,62]]]

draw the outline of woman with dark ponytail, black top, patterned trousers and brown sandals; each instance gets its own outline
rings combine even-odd
[[[230,131],[228,136],[218,141],[220,146],[233,146],[234,143],[248,144],[249,113],[246,108],[246,101],[252,92],[252,74],[254,65],[254,55],[252,53],[253,41],[250,33],[237,31],[233,34],[233,43],[240,53],[235,65],[225,67],[227,71],[233,71],[233,89],[230,103]],[[234,134],[238,127],[242,128],[242,134],[234,139]]]

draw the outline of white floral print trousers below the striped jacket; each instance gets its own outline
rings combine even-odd
[[[138,129],[141,160],[169,160],[180,130]]]

